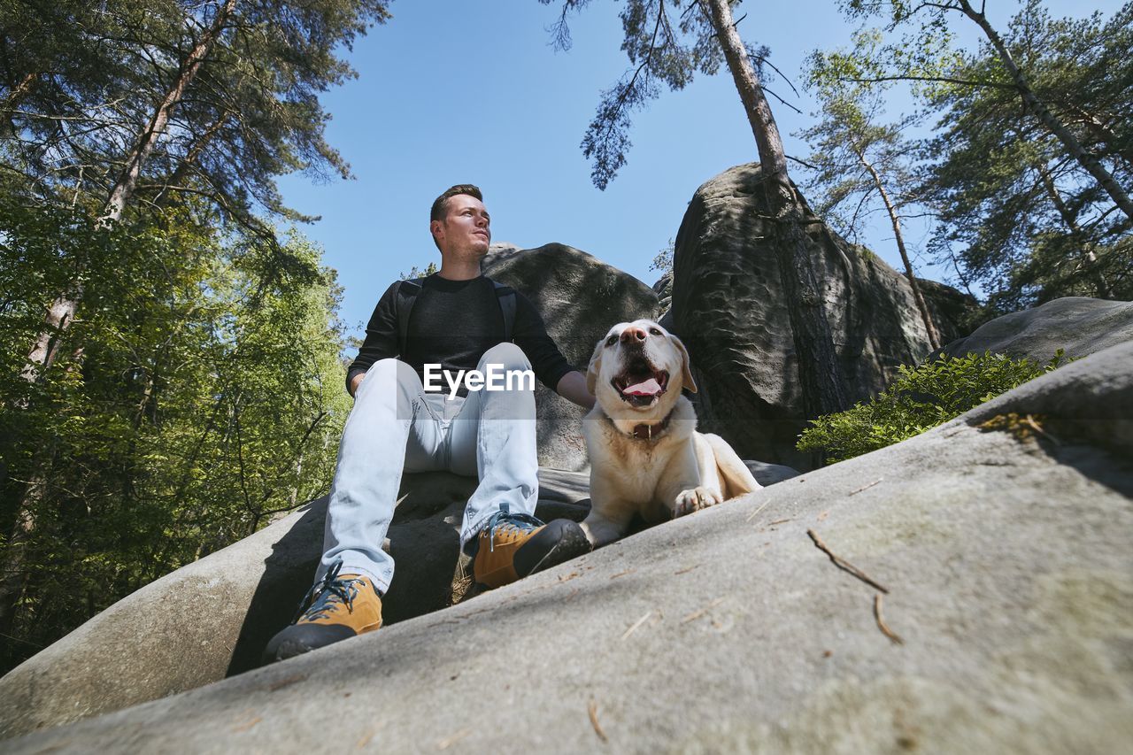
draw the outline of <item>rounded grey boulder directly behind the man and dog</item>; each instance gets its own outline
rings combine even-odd
[[[657,295],[637,278],[563,244],[536,249],[493,246],[485,275],[522,291],[543,315],[547,333],[566,360],[586,373],[590,354],[611,325],[655,317]],[[539,465],[586,469],[581,410],[536,382]]]

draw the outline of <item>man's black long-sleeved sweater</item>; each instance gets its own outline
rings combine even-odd
[[[347,388],[353,376],[378,359],[398,357],[424,381],[424,365],[440,364],[453,376],[458,370],[475,370],[484,353],[504,340],[503,312],[492,280],[448,280],[437,274],[421,282],[406,337],[406,353],[398,354],[398,283],[385,290],[366,325],[366,340],[347,371]],[[531,362],[535,376],[551,390],[574,370],[547,336],[543,319],[531,302],[516,291],[516,324],[512,341]],[[443,390],[448,383],[442,379]],[[461,382],[460,396],[468,390]]]

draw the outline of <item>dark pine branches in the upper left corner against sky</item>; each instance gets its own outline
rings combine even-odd
[[[31,0],[0,3],[0,136],[37,195],[99,212],[154,108],[174,91],[189,50],[224,0]],[[325,142],[318,95],[355,75],[339,57],[386,0],[241,0],[172,109],[142,166],[148,202],[193,193],[216,219],[261,226],[296,217],[275,177],[316,179],[349,167]],[[14,138],[7,138],[14,137]]]

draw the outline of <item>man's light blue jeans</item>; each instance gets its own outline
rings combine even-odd
[[[485,351],[477,370],[484,373],[487,365],[531,368],[514,343]],[[535,514],[539,483],[531,382],[451,400],[441,382],[444,393],[426,393],[417,372],[398,359],[382,359],[366,372],[339,444],[316,584],[342,561],[342,574],[366,575],[382,593],[390,588],[393,559],[382,543],[402,470],[477,475],[479,485],[465,507],[461,546],[501,503],[516,514]]]

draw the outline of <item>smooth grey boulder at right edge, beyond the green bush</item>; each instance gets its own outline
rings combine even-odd
[[[944,347],[949,356],[995,351],[1047,362],[1055,351],[1087,356],[1133,340],[1133,303],[1066,297],[996,317]]]

